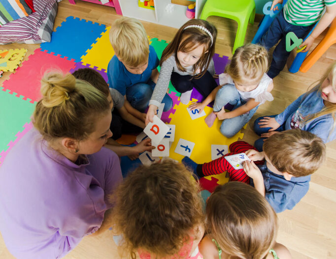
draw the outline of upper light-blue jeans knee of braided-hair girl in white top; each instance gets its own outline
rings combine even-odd
[[[240,95],[234,85],[222,86],[216,93],[213,111],[219,112],[226,104],[236,105],[240,102]]]

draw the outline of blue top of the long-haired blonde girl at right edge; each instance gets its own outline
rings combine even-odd
[[[309,131],[320,137],[324,143],[336,139],[334,119],[331,114],[319,116],[305,124],[304,117],[321,111],[325,105],[318,90],[311,92],[307,96],[302,94],[298,99],[291,103],[281,114],[275,116],[275,120],[280,124],[285,124],[285,130],[300,128]],[[332,131],[332,132],[331,132]]]

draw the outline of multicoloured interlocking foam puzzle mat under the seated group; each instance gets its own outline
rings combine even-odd
[[[79,29],[80,28],[80,29]],[[91,67],[103,76],[107,82],[107,65],[114,55],[109,42],[109,29],[84,19],[67,17],[60,27],[52,34],[51,42],[42,43],[26,61],[12,73],[0,88],[0,166],[10,149],[33,127],[31,116],[36,102],[41,97],[40,80],[48,70],[74,72],[79,68]],[[67,44],[65,44],[67,42]],[[157,38],[150,39],[159,59],[168,42]],[[213,57],[217,74],[224,71],[229,62],[228,57]],[[160,69],[160,68],[159,68]],[[27,80],[29,79],[29,80]],[[217,82],[218,83],[218,82]],[[225,138],[219,131],[220,122],[215,121],[209,128],[200,117],[192,119],[187,111],[187,105],[180,103],[179,93],[169,84],[169,96],[173,100],[173,107],[164,112],[161,119],[168,124],[176,125],[175,141],[171,144],[169,157],[181,161],[182,155],[174,152],[179,139],[195,143],[191,158],[197,163],[211,160],[211,145],[230,145],[242,139],[243,133],[237,133],[233,138]],[[201,101],[202,95],[194,89],[192,101]],[[211,104],[209,105],[211,107]],[[212,109],[205,107],[208,115]],[[127,139],[127,138],[126,138]],[[134,138],[132,139],[132,142]],[[140,165],[139,159],[131,161],[128,157],[121,158],[123,175]],[[202,187],[210,192],[216,185],[228,181],[225,173],[203,177]]]

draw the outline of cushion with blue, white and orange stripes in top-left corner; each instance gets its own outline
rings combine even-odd
[[[0,25],[26,17],[32,12],[25,0],[0,0]]]

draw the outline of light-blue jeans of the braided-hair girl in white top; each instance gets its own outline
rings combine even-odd
[[[222,107],[225,106],[227,103],[234,105],[234,108],[232,110],[235,110],[239,106],[242,106],[246,103],[240,99],[240,94],[238,93],[234,85],[227,84],[225,86],[222,86],[218,90],[215,98],[215,103],[213,104],[213,111],[220,111]],[[235,134],[237,134],[238,131],[251,119],[251,117],[257,111],[258,106],[240,116],[225,119],[220,126],[221,133],[227,138],[235,136]]]

